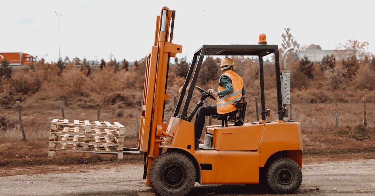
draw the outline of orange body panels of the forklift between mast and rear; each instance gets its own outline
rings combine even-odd
[[[302,134],[298,122],[245,123],[243,126],[208,126],[213,134],[212,148],[195,151],[194,125],[171,117],[167,138],[159,148],[162,153],[177,150],[192,157],[201,172],[200,184],[258,184],[259,170],[277,152],[302,167]]]

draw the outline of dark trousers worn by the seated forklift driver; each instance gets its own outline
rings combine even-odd
[[[229,112],[228,114],[236,114],[237,110]],[[204,127],[204,121],[206,116],[217,115],[216,105],[201,107],[198,112],[196,112],[195,122],[194,122],[194,137],[196,139],[201,138],[202,130]]]

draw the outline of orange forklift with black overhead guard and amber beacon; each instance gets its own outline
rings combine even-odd
[[[195,51],[177,106],[169,123],[164,121],[169,58],[182,52],[173,44],[175,11],[166,7],[156,17],[154,45],[147,55],[139,147],[124,154],[144,153],[144,179],[160,195],[186,195],[199,184],[259,184],[280,194],[294,193],[302,182],[300,123],[287,120],[290,72],[280,71],[279,49],[268,45],[265,35],[258,45],[202,45]],[[264,96],[263,57],[275,55],[278,120],[268,121]],[[196,86],[204,56],[257,56],[260,70],[261,120],[244,121],[245,97],[236,103],[237,115],[218,115],[221,125],[207,126],[204,144],[194,149],[195,112],[206,98],[215,99]],[[284,63],[285,65],[285,63]],[[193,90],[201,98],[188,114]],[[229,124],[228,121],[234,122]]]

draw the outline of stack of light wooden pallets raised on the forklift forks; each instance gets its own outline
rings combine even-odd
[[[123,158],[125,127],[118,122],[51,121],[48,156],[56,151],[117,154]]]

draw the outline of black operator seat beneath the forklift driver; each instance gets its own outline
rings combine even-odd
[[[242,96],[240,101],[234,102],[234,106],[238,109],[237,114],[228,115],[228,114],[219,114],[217,115],[217,120],[221,120],[221,127],[228,127],[228,121],[234,122],[234,126],[243,125],[245,122],[245,113],[246,113],[246,101],[245,96]],[[225,126],[224,126],[225,124]]]

